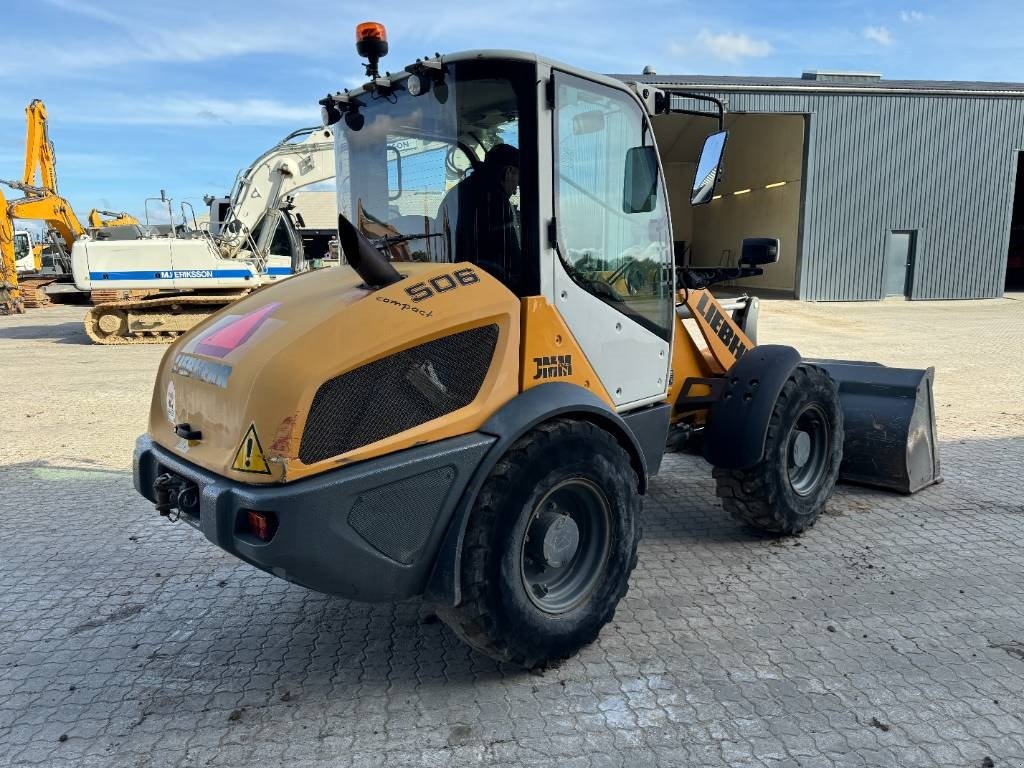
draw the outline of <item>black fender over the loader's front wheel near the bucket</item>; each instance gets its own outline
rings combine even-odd
[[[768,422],[786,379],[800,365],[793,347],[755,347],[726,372],[721,399],[711,407],[703,456],[726,469],[753,467],[764,456]]]

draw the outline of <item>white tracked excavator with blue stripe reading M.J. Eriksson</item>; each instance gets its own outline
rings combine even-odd
[[[80,290],[160,292],[93,306],[85,318],[89,338],[99,344],[167,343],[254,289],[301,271],[304,254],[289,196],[334,172],[331,130],[304,128],[239,175],[226,216],[216,218],[213,231],[176,227],[167,237],[76,243],[72,270]]]

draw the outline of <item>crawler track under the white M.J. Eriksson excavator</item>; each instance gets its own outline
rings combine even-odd
[[[85,315],[85,333],[97,344],[167,344],[247,293],[98,304]]]

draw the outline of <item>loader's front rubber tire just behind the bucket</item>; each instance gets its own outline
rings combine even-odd
[[[771,534],[799,534],[824,510],[842,460],[839,388],[822,369],[801,364],[775,401],[761,462],[716,467],[713,474],[722,506],[735,519]]]

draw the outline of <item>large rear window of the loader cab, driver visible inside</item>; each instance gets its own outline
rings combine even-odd
[[[471,261],[536,292],[534,73],[458,62],[418,96],[359,94],[361,121],[335,131],[339,213],[392,261]]]

